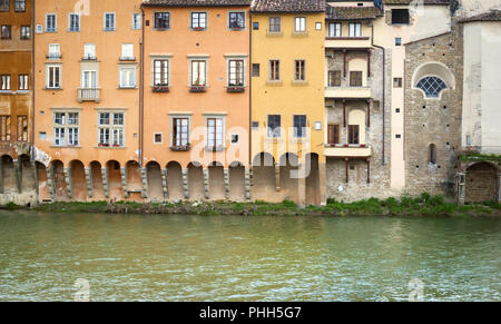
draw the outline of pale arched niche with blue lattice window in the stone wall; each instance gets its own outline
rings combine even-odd
[[[443,90],[454,89],[455,78],[451,70],[441,62],[425,62],[412,75],[412,88],[420,90],[426,99],[441,99]],[[435,89],[426,91],[425,89]]]

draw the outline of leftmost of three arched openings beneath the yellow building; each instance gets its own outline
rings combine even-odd
[[[259,153],[254,157],[252,195],[256,200],[271,200],[277,197],[275,159],[268,153]]]

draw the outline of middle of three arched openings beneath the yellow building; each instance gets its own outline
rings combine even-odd
[[[281,165],[281,192],[283,199],[299,202],[299,179],[297,169],[299,166],[299,159],[297,155],[293,153],[284,154],[279,159]]]

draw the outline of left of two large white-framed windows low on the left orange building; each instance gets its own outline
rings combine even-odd
[[[79,145],[79,112],[53,112],[53,145]]]

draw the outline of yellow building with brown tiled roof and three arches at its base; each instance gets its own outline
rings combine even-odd
[[[324,1],[253,3],[254,199],[326,200],[324,10]]]

